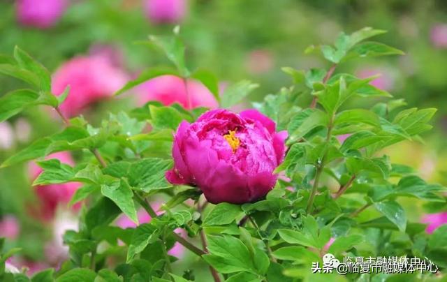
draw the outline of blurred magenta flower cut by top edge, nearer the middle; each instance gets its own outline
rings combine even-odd
[[[186,0],[144,0],[146,17],[156,24],[181,22],[186,15]]]

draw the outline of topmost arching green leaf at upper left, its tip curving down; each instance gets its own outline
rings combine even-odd
[[[51,75],[44,66],[17,46],[14,48],[14,58],[21,68],[34,73],[38,77],[40,89],[43,91],[51,90]]]

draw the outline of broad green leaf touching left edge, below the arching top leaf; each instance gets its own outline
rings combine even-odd
[[[33,105],[38,93],[31,89],[11,91],[0,98],[0,122],[22,112],[27,106]]]

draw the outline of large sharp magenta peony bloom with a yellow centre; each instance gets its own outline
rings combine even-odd
[[[235,114],[210,110],[196,122],[182,121],[175,134],[172,184],[196,185],[209,202],[244,203],[263,198],[277,181],[286,131],[257,110]]]

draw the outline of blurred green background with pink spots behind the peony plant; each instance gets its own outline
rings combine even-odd
[[[446,1],[161,1],[173,2],[174,6],[166,11],[159,7],[161,4],[152,4],[151,8],[146,3],[150,1],[142,0],[2,0],[0,53],[12,54],[18,45],[52,73],[73,57],[101,54],[115,68],[135,77],[145,68],[168,64],[160,52],[138,41],[146,40],[149,34],[172,34],[175,25],[180,24],[190,68],[210,69],[222,85],[242,79],[260,85],[247,99],[249,105],[291,84],[281,71],[283,66],[328,68],[321,56],[305,54],[307,46],[332,43],[340,31],[386,29],[388,34],[377,40],[403,50],[404,56],[358,59],[339,66],[337,71],[360,77],[381,74],[374,85],[390,91],[395,98],[404,98],[409,107],[439,109],[434,129],[424,135],[425,144],[404,142],[386,154],[395,163],[420,170],[427,181],[447,185]],[[21,87],[20,81],[0,76],[0,96]],[[127,95],[98,103],[85,115],[97,122],[106,112],[133,105],[133,97]],[[60,126],[43,107],[1,123],[0,162]],[[0,236],[10,237],[10,246],[22,247],[22,261],[38,269],[51,265],[48,250],[61,244],[55,237],[75,223],[62,211],[51,221],[36,220],[31,215],[36,201],[27,164],[0,170]],[[414,202],[403,204],[411,207],[407,211],[413,219],[430,209],[447,211],[444,204],[436,208],[414,207]]]

